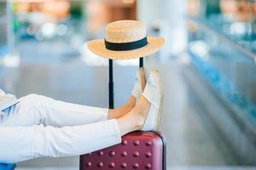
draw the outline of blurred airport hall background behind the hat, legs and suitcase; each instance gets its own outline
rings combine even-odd
[[[165,82],[167,169],[255,170],[254,0],[0,0],[0,88],[108,107],[108,59],[86,41],[103,38],[114,20],[142,20],[148,35],[166,38],[145,65]],[[138,60],[113,64],[119,106]],[[17,169],[79,169],[79,156]]]

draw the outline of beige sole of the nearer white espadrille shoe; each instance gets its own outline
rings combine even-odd
[[[157,111],[157,117],[155,119],[154,128],[153,128],[153,131],[158,131],[159,128],[160,128],[160,121],[161,121],[162,110],[163,110],[164,89],[163,89],[163,82],[162,82],[162,79],[160,77],[160,72],[155,70],[155,71],[151,71],[151,74],[157,80],[156,82],[157,82],[157,85],[160,89],[160,98],[159,98],[160,106],[159,106],[159,109]]]

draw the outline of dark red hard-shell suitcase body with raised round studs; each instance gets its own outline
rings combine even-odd
[[[122,143],[80,156],[80,170],[166,170],[166,142],[160,133],[133,132]]]

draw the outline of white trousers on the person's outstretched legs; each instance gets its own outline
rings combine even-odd
[[[0,162],[78,156],[121,142],[108,109],[57,101],[37,94],[0,115]]]

